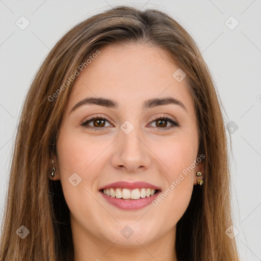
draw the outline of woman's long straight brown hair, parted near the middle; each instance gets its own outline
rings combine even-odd
[[[49,179],[49,159],[56,153],[56,138],[73,85],[71,75],[79,74],[79,66],[87,66],[87,59],[102,46],[124,43],[168,51],[187,74],[194,100],[198,155],[205,155],[205,176],[204,185],[194,187],[191,202],[177,223],[173,248],[178,260],[239,260],[234,239],[225,233],[232,224],[227,138],[211,73],[192,37],[173,18],[158,10],[126,6],[77,24],[58,41],[34,77],[15,140],[1,260],[73,260],[69,209],[60,180]],[[22,225],[30,231],[24,239],[17,233]]]

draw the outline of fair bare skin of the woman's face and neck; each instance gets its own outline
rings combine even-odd
[[[175,261],[176,223],[191,199],[196,172],[188,172],[157,206],[123,211],[109,204],[98,191],[115,181],[146,181],[166,190],[180,173],[198,158],[196,112],[186,82],[172,76],[178,67],[165,50],[147,45],[106,46],[100,55],[76,77],[57,139],[54,180],[61,180],[70,210],[74,261],[165,260]],[[62,94],[60,94],[62,95]],[[98,96],[119,103],[118,108],[83,105],[80,100]],[[184,103],[142,109],[150,98],[174,97]],[[104,130],[94,131],[81,123],[91,116],[106,117]],[[179,123],[164,127],[155,116],[168,116]],[[125,134],[120,126],[128,120],[134,126]],[[158,124],[157,124],[158,122]],[[94,121],[89,123],[94,126]],[[97,122],[96,122],[97,126]],[[97,127],[96,127],[97,128]],[[165,129],[165,131],[164,131]],[[68,181],[72,173],[82,181]],[[134,231],[125,238],[121,230]]]

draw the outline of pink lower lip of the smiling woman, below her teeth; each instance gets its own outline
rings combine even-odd
[[[102,191],[100,191],[102,196],[109,202],[110,204],[120,208],[121,210],[140,210],[141,208],[151,204],[151,202],[158,197],[160,191],[155,193],[153,196],[140,198],[140,199],[120,199],[113,198],[111,196],[107,196]]]

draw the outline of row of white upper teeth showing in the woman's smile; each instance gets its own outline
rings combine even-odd
[[[123,199],[139,199],[139,198],[145,198],[150,197],[155,194],[154,189],[103,189],[103,194],[106,194],[107,196],[116,197],[116,198],[123,198]]]

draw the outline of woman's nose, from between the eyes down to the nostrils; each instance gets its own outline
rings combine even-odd
[[[111,163],[114,168],[130,173],[145,170],[151,164],[150,149],[138,127],[126,134],[121,129],[114,147]]]

